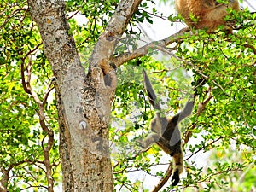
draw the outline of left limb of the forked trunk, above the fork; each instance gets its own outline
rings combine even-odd
[[[57,83],[62,85],[68,82],[70,84],[67,86],[71,86],[77,79],[84,81],[84,68],[80,63],[73,36],[68,32],[64,1],[29,0],[28,5],[32,19],[38,24],[45,55],[53,68]],[[66,76],[73,68],[77,75],[67,79]]]

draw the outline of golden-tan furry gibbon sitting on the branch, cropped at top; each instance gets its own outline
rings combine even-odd
[[[224,25],[227,31],[232,32],[230,25],[224,21],[224,17],[228,15],[228,8],[240,10],[237,0],[229,0],[227,4],[218,3],[216,0],[176,0],[175,7],[189,27],[207,28],[207,32],[218,29],[220,25]],[[196,21],[191,20],[191,15]]]

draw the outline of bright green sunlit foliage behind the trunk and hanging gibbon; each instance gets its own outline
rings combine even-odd
[[[66,1],[70,32],[85,71],[93,46],[118,3],[116,0]],[[141,46],[145,37],[142,23],[154,25],[154,18],[158,17],[169,19],[170,25],[175,26],[177,17],[162,14],[155,3],[143,1],[113,56],[136,51]],[[57,189],[61,183],[61,162],[55,93],[51,84],[53,74],[26,2],[3,0],[0,4],[0,179],[4,181],[8,177],[6,187],[9,191],[43,191],[49,182],[45,169],[50,167]],[[82,24],[78,25],[78,20],[74,19],[76,15],[83,16]],[[117,191],[152,189],[151,181],[164,177],[166,166],[172,160],[155,145],[147,152],[135,155],[140,149],[136,139],[150,132],[149,121],[154,117],[143,91],[141,67],[148,69],[161,105],[170,115],[177,113],[186,102],[192,90],[192,76],[195,79],[207,77],[207,85],[201,87],[193,115],[181,125],[183,138],[188,133],[192,137],[184,145],[186,172],[176,190],[253,189],[253,151],[256,147],[256,26],[253,20],[256,16],[245,9],[239,14],[234,13],[233,17],[240,23],[240,28],[233,34],[226,34],[221,26],[212,34],[199,31],[171,45],[172,54],[160,61],[153,56],[159,51],[152,49],[148,55],[118,68],[119,86],[110,126],[110,140],[114,146],[113,181]],[[138,62],[142,64],[138,66]],[[26,91],[24,84],[27,86],[27,83],[37,96]],[[49,150],[51,137],[38,121],[38,101],[44,101],[45,96],[45,124],[48,131],[54,133],[54,143]],[[209,96],[212,98],[206,108],[197,115],[198,104]],[[49,164],[45,163],[48,160],[45,153],[49,154]],[[195,159],[197,154],[207,158],[206,165],[201,166]],[[163,191],[168,189],[172,189],[169,183]]]

